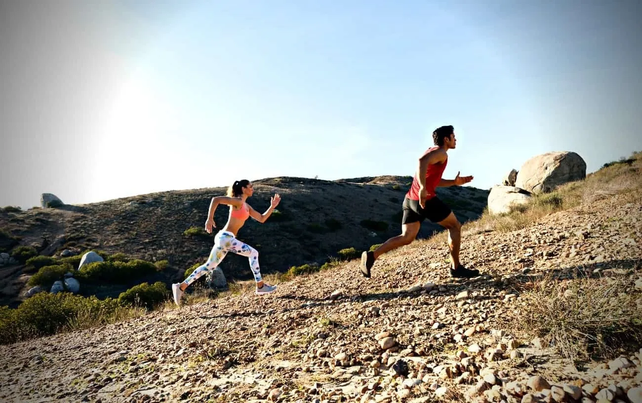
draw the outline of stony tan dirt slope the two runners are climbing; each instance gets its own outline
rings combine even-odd
[[[640,402],[642,353],[578,370],[510,323],[525,285],[546,273],[623,275],[621,291],[639,296],[641,196],[510,233],[465,232],[462,260],[482,271],[476,279],[449,279],[446,245],[417,241],[377,261],[371,279],[351,261],[273,295],[3,346],[0,400]]]

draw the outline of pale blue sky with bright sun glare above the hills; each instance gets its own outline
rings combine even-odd
[[[633,1],[83,3],[0,3],[0,206],[642,150]]]

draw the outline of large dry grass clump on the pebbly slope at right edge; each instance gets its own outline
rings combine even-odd
[[[526,289],[517,327],[568,359],[605,358],[642,343],[640,293],[627,277],[560,281],[547,275]]]

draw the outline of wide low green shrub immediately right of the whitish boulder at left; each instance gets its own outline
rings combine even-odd
[[[78,279],[91,283],[110,282],[123,284],[157,271],[152,262],[134,259],[128,262],[92,262],[78,271]]]

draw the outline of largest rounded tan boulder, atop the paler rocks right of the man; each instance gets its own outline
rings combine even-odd
[[[586,162],[573,151],[552,151],[526,161],[517,173],[516,187],[548,193],[555,187],[586,178]]]

